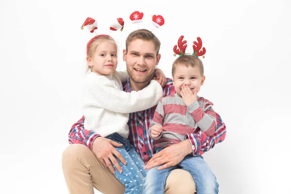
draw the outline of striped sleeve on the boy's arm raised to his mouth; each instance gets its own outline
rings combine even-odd
[[[193,116],[198,127],[206,134],[212,135],[216,130],[216,114],[212,109],[213,103],[202,98],[201,108],[198,101],[194,101],[187,110]]]

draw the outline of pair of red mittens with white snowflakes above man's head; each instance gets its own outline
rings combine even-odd
[[[144,13],[139,12],[139,11],[135,11],[129,16],[129,19],[132,21],[133,24],[137,24],[139,27],[139,23],[143,22],[143,17],[144,17]],[[161,16],[161,15],[158,15],[158,16],[153,15],[151,23],[154,25],[153,29],[155,27],[160,28],[162,25],[164,25],[165,20],[164,20],[163,16]]]

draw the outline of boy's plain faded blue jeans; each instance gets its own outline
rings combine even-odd
[[[156,153],[161,150],[162,148],[158,148]],[[197,194],[218,194],[219,185],[216,177],[202,156],[186,156],[176,166],[163,170],[157,170],[157,168],[158,166],[148,171],[144,182],[144,194],[163,194],[167,177],[172,170],[177,168],[184,169],[192,175]]]

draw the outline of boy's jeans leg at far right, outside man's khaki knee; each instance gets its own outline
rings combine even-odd
[[[186,156],[178,165],[193,176],[197,194],[218,194],[219,184],[202,156]]]

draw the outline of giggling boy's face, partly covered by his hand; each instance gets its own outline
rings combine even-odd
[[[188,85],[194,92],[199,92],[201,85],[205,81],[205,76],[201,76],[200,69],[196,65],[194,67],[177,64],[175,73],[173,75],[173,85],[176,92],[181,95],[181,88],[183,85]]]

